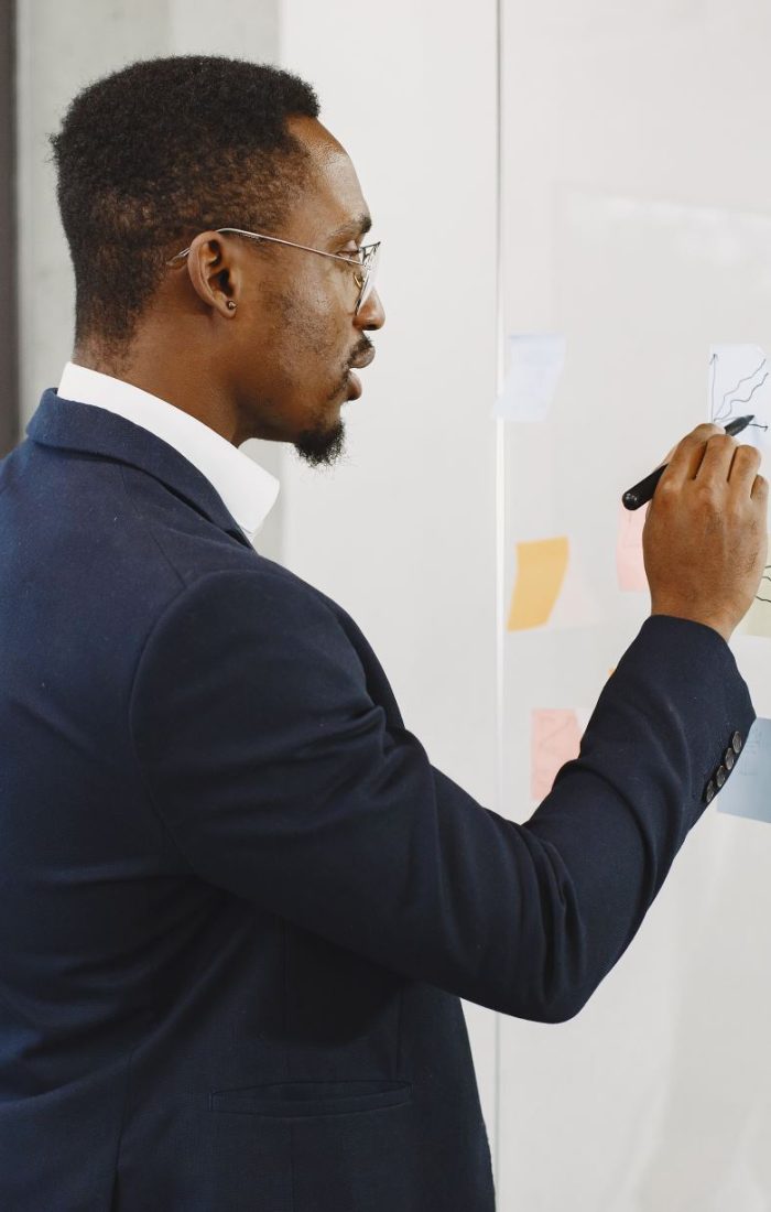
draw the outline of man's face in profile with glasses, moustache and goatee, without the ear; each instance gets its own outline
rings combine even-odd
[[[324,252],[354,252],[366,242],[370,219],[347,153],[315,119],[293,118],[287,127],[308,149],[312,168],[282,229],[270,234]],[[359,287],[350,265],[229,239],[244,258],[242,298],[229,326],[236,445],[247,438],[291,441],[305,462],[330,465],[343,452],[341,408],[360,391],[350,368],[372,348],[366,330],[386,322],[377,292],[354,315]]]

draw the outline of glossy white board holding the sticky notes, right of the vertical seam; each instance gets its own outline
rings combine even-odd
[[[503,330],[565,342],[542,419],[498,422],[506,622],[524,562],[564,558],[538,544],[569,544],[548,622],[501,646],[503,802],[522,822],[549,777],[536,730],[582,731],[650,612],[619,584],[621,493],[708,419],[714,343],[771,355],[771,6],[502,17]],[[731,647],[771,716],[771,639]],[[718,805],[577,1018],[501,1017],[502,1210],[771,1208],[771,825]]]

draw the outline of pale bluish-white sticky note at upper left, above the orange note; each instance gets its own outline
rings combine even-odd
[[[543,421],[565,362],[565,337],[514,333],[508,337],[507,371],[492,416],[506,421]]]

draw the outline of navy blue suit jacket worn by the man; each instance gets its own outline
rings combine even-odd
[[[754,719],[729,646],[647,619],[516,824],[171,446],[55,390],[27,434],[0,463],[0,1206],[489,1212],[459,999],[590,997]]]

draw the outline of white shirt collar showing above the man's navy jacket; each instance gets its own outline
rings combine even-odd
[[[276,478],[264,467],[202,421],[102,371],[67,362],[57,393],[63,400],[116,412],[162,438],[206,476],[253,545],[255,536],[273,509],[280,488]]]

